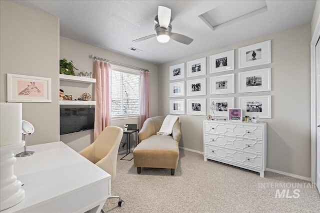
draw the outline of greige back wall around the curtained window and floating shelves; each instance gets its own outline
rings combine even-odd
[[[86,43],[82,43],[76,40],[72,40],[70,38],[60,36],[60,58],[65,58],[68,61],[72,60],[73,65],[77,69],[79,69],[78,71],[75,71],[76,74],[84,70],[87,70],[88,72],[92,71],[92,59],[89,58],[89,55],[94,55],[97,57],[109,59],[111,61],[150,70],[151,116],[158,115],[158,74],[156,65],[138,59],[130,58],[124,55],[120,55],[100,47],[92,46]],[[80,88],[78,86],[80,86]],[[63,89],[64,94],[71,94],[73,96],[72,98],[77,98],[83,92],[89,92],[90,94],[94,94],[94,85],[63,82],[60,84],[60,87]],[[110,123],[110,125],[119,127],[123,127],[124,124],[138,124],[138,119],[135,118],[112,120]],[[133,138],[131,139],[133,140]],[[93,130],[86,130],[83,132],[61,135],[60,140],[66,143],[75,151],[80,151],[84,147],[88,146],[91,142],[93,142]],[[122,139],[122,142],[124,142],[124,137]],[[121,150],[123,149],[120,148],[120,151]]]

